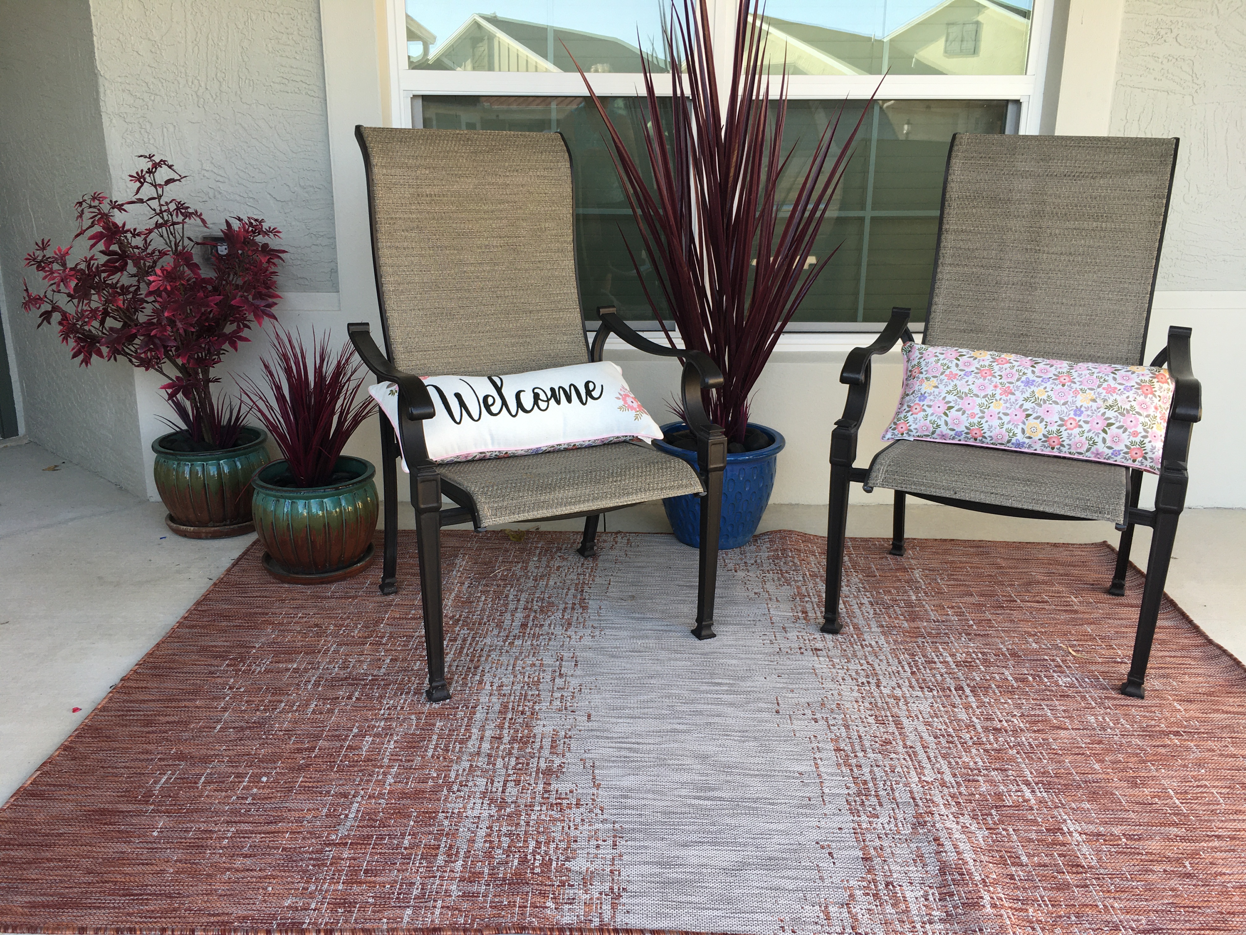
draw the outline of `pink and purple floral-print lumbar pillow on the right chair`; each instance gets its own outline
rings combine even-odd
[[[883,440],[1007,448],[1159,474],[1172,401],[1163,368],[913,342],[901,353],[905,386]]]

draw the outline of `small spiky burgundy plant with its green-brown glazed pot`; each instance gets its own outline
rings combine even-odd
[[[371,396],[356,400],[361,364],[349,347],[336,355],[328,333],[309,357],[300,339],[282,330],[274,359],[264,358],[262,389],[238,383],[255,418],[277,441],[282,460],[252,479],[252,516],[264,544],[264,567],[295,585],[315,585],[358,575],[371,563],[379,499],[376,469],[341,454],[373,411]]]

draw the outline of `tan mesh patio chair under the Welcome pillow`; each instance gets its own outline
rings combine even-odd
[[[380,590],[397,590],[397,474],[411,471],[430,702],[450,697],[441,607],[441,526],[584,517],[579,554],[594,555],[601,514],[665,496],[704,495],[697,582],[699,640],[714,636],[714,585],[726,436],[701,393],[723,374],[700,352],[647,340],[598,309],[589,348],[576,280],[571,156],[558,133],[356,127],[368,173],[373,262],[385,339],[350,339],[368,368],[397,384],[399,434],[384,414],[385,552]],[[698,469],[644,443],[436,464],[425,446],[432,400],[416,374],[488,376],[599,362],[609,334],[682,357],[683,403]],[[456,506],[442,509],[442,495]],[[714,535],[709,535],[709,530]],[[516,587],[521,587],[516,582]]]

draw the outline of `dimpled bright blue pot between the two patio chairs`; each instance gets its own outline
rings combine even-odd
[[[779,453],[787,444],[784,436],[771,428],[756,423],[749,425],[760,429],[774,441],[758,451],[741,451],[726,456],[726,469],[723,471],[723,520],[718,526],[720,550],[741,546],[758,531],[761,514],[770,502],[770,491],[775,487]],[[678,431],[684,428],[687,426],[683,423],[668,423],[662,426],[662,431]],[[697,466],[695,451],[685,451],[660,439],[654,441],[653,446],[668,455],[683,458],[693,467]],[[701,497],[693,494],[668,496],[662,501],[675,539],[694,549],[700,549],[700,504]]]

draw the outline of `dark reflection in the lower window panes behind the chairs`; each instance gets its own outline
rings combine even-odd
[[[412,116],[425,127],[562,131],[576,186],[576,261],[584,317],[592,318],[598,305],[614,305],[630,320],[652,319],[645,290],[660,307],[657,280],[591,101],[429,95],[416,100],[421,110]],[[635,97],[604,102],[628,146],[642,153],[643,102]],[[913,319],[922,320],[948,142],[956,132],[1004,132],[1008,102],[791,101],[784,140],[785,148],[794,148],[785,176],[790,188],[799,183],[827,123],[840,117],[842,140],[862,111],[856,152],[810,258],[811,266],[830,268],[819,276],[796,322],[885,322],[892,305],[910,307]],[[639,162],[644,165],[643,156]],[[639,259],[639,277],[624,238]]]

